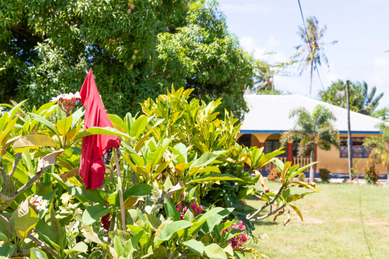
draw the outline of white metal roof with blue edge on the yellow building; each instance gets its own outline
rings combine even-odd
[[[281,133],[292,129],[296,118],[289,118],[289,112],[298,107],[305,107],[312,113],[317,105],[329,108],[336,117],[335,128],[340,133],[347,132],[347,109],[328,104],[301,95],[245,95],[249,112],[241,128],[241,133]],[[354,111],[350,112],[351,131],[353,133],[378,133],[375,127],[382,122]]]

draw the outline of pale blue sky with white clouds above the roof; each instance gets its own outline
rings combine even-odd
[[[268,62],[285,62],[301,44],[297,35],[302,19],[297,0],[218,0],[227,17],[231,33],[255,58]],[[306,19],[316,16],[319,25],[327,25],[323,41],[330,70],[319,67],[324,88],[331,81],[366,81],[369,89],[384,92],[379,107],[389,106],[389,1],[386,0],[300,0]],[[265,52],[276,52],[266,55]],[[275,87],[301,95],[309,94],[309,71],[298,75],[297,66],[290,69],[296,76],[274,78]],[[312,97],[321,89],[315,72]]]

